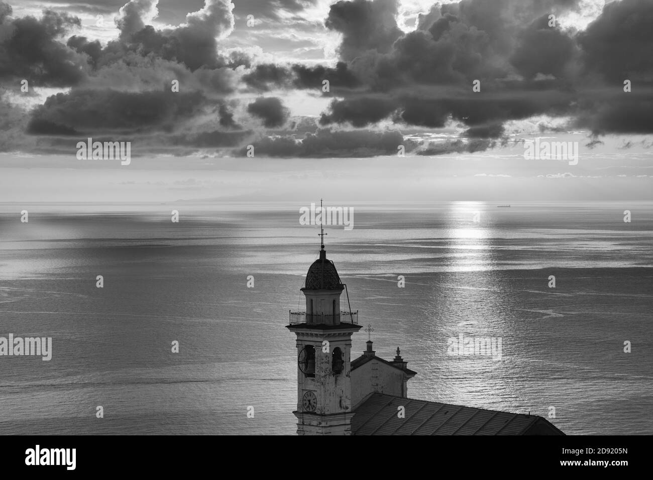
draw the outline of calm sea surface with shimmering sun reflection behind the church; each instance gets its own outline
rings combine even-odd
[[[0,204],[0,336],[53,339],[49,362],[0,357],[0,434],[295,433],[302,206]],[[418,372],[410,397],[653,433],[653,203],[342,206],[327,256],[377,355]],[[502,361],[447,355],[460,334]]]

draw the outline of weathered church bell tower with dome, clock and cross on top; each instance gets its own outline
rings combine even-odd
[[[340,309],[346,286],[324,246],[302,288],[306,310],[290,312],[287,329],[296,335],[297,434],[351,434],[351,335],[361,327],[358,312]],[[349,304],[347,299],[347,304]]]

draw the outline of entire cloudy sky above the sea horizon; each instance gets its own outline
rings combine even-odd
[[[653,0],[0,0],[0,202],[653,200],[652,25]]]

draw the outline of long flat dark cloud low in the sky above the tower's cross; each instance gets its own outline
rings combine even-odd
[[[302,140],[293,136],[265,137],[254,142],[255,155],[261,157],[375,157],[377,155],[396,155],[399,145],[404,142],[400,132],[371,132],[366,130],[332,131],[321,128],[315,134],[307,133]],[[245,155],[246,149],[238,151]]]

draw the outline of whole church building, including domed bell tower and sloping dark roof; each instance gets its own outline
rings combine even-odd
[[[537,415],[497,412],[408,398],[417,372],[400,356],[377,357],[368,339],[351,360],[358,312],[341,305],[340,281],[324,245],[306,275],[306,310],[291,311],[296,335],[297,433],[300,435],[564,435]]]

